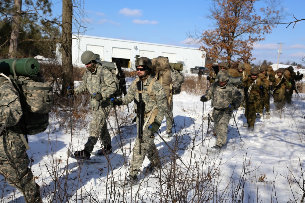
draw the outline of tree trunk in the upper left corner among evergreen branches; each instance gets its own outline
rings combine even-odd
[[[9,41],[9,59],[15,59],[18,50],[19,32],[20,32],[20,18],[21,18],[22,0],[14,0],[14,15],[12,22],[12,33]]]

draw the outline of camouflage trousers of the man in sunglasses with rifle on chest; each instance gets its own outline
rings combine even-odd
[[[144,119],[145,120],[145,119]],[[137,127],[139,125],[138,118],[137,118]],[[136,141],[133,147],[133,157],[130,160],[130,168],[129,168],[129,175],[135,176],[140,171],[140,168],[143,164],[145,155],[151,162],[151,164],[156,165],[158,167],[161,166],[160,164],[160,156],[157,150],[156,145],[154,144],[154,134],[148,130],[149,124],[143,128],[143,139],[141,143],[141,154],[140,152],[140,144],[139,144],[139,137],[136,137]]]

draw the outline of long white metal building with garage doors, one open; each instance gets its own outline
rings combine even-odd
[[[171,63],[182,63],[183,71],[189,71],[195,66],[205,66],[203,52],[197,48],[188,48],[172,45],[162,45],[139,41],[129,41],[94,36],[74,36],[72,41],[72,62],[81,63],[83,52],[90,50],[100,55],[103,61],[112,62],[121,59],[122,67],[134,67],[135,56],[153,59],[158,56],[167,56]]]

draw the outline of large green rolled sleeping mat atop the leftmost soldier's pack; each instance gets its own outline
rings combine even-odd
[[[5,75],[37,76],[39,62],[34,58],[0,59],[0,71]]]

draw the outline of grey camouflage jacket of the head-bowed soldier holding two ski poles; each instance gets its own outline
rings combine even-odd
[[[205,91],[204,94],[208,100],[213,99],[212,107],[216,109],[226,109],[233,103],[235,108],[241,105],[241,93],[234,84],[227,82],[223,87],[220,87],[217,82]]]

